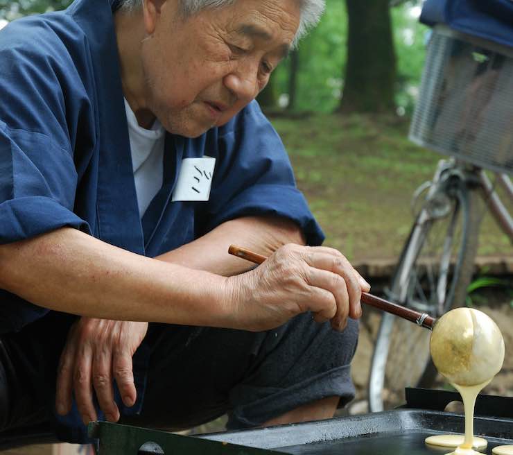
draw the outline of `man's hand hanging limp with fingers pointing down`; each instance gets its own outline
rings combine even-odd
[[[148,323],[80,318],[71,327],[60,357],[55,407],[60,415],[71,411],[74,392],[78,411],[85,424],[96,420],[93,388],[100,408],[109,422],[119,420],[112,380],[123,403],[133,406],[137,397],[132,372],[132,356],[141,344]]]

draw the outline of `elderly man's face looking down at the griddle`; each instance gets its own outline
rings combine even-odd
[[[186,137],[223,125],[250,103],[299,26],[297,0],[238,0],[186,19],[177,0],[150,1],[141,47],[147,106],[166,130]]]

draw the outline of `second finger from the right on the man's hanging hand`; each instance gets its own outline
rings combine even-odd
[[[100,409],[105,413],[109,422],[119,420],[119,409],[114,402],[114,390],[112,388],[112,352],[109,350],[97,350],[93,360],[93,386]]]

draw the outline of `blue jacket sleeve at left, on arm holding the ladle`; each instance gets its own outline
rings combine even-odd
[[[63,85],[65,74],[77,80],[63,47],[39,19],[18,19],[0,32],[0,244],[64,226],[90,232],[73,213],[80,99]],[[0,290],[0,333],[47,312]]]

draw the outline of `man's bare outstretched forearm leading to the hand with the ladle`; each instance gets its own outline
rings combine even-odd
[[[0,246],[0,286],[81,316],[230,326],[225,278],[136,255],[71,228]]]

